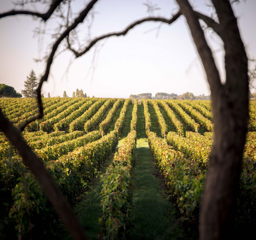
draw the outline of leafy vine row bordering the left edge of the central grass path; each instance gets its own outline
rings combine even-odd
[[[107,239],[119,239],[130,224],[132,205],[131,168],[136,150],[136,131],[131,131],[114,156],[113,163],[101,175],[102,216]]]

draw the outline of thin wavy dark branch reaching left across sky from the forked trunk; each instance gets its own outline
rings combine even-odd
[[[87,53],[98,41],[104,39],[104,38],[108,38],[108,37],[112,37],[112,36],[124,36],[128,33],[128,31],[130,29],[132,29],[133,27],[137,26],[137,25],[140,25],[142,23],[145,23],[145,22],[149,22],[149,21],[154,21],[154,22],[162,22],[162,23],[166,23],[166,24],[172,24],[175,20],[177,20],[181,15],[181,12],[177,12],[176,14],[174,14],[172,16],[172,18],[170,19],[166,19],[166,18],[160,18],[160,17],[149,17],[149,18],[144,18],[144,19],[141,19],[141,20],[138,20],[132,24],[130,24],[125,30],[123,31],[120,31],[120,32],[112,32],[112,33],[108,33],[108,34],[105,34],[105,35],[102,35],[100,37],[97,37],[95,38],[94,40],[92,40],[89,45],[82,51],[82,52],[77,52],[76,50],[74,50],[72,47],[71,47],[71,44],[69,43],[69,38],[67,36],[67,45],[68,45],[68,49],[70,51],[72,51],[76,57],[80,57],[82,56],[83,54]]]

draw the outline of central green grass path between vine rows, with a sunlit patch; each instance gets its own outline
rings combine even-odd
[[[181,239],[181,226],[175,223],[174,208],[162,188],[161,178],[150,153],[145,133],[143,106],[138,105],[137,164],[133,167],[132,226],[128,240]],[[152,120],[154,116],[152,116]],[[157,126],[155,126],[157,127]]]

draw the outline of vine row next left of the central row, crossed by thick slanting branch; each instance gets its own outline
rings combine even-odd
[[[102,162],[115,150],[117,143],[118,134],[112,131],[58,160],[46,162],[47,170],[70,204],[75,203],[79,191],[87,186]],[[37,225],[38,231],[54,231],[57,215],[32,174],[26,172],[16,181],[12,189],[14,202],[9,216],[15,220],[17,231],[21,235],[29,232],[29,218],[41,223]]]

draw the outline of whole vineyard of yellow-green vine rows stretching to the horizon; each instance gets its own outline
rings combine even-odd
[[[37,113],[32,98],[1,99],[0,107],[15,127]],[[73,208],[91,182],[100,181],[100,236],[125,238],[132,225],[140,139],[148,144],[176,217],[197,231],[214,138],[210,101],[44,98],[43,107],[43,119],[22,135]],[[256,222],[255,102],[248,130],[236,213],[237,225],[246,230]],[[0,239],[58,239],[57,213],[3,133],[0,202]]]

